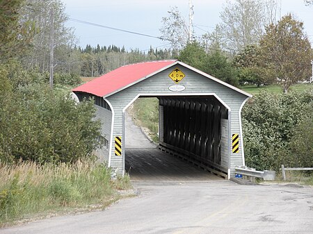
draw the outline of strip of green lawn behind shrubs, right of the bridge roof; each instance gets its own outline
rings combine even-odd
[[[310,90],[311,88],[313,88],[313,84],[310,83],[296,84],[290,87],[290,91],[303,92],[305,90]],[[268,90],[268,92],[273,92],[275,94],[282,93],[282,87],[280,87],[279,85],[264,85],[260,87],[257,87],[257,85],[245,85],[240,87],[240,89],[252,95],[259,94],[259,92],[261,92],[262,90]]]

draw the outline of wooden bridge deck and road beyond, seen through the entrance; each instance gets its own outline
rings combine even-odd
[[[203,169],[163,153],[150,142],[125,113],[125,169],[131,181],[212,181],[223,180]]]

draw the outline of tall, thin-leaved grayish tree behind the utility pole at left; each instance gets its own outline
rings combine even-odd
[[[54,62],[58,69],[67,66],[64,54],[69,55],[75,44],[73,29],[65,26],[64,3],[61,0],[25,0],[21,10],[22,21],[32,22],[36,31],[31,53],[23,57],[24,66],[39,67],[42,72],[49,70],[51,8],[54,10]]]

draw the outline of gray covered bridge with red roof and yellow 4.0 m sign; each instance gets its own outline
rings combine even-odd
[[[109,167],[125,172],[125,110],[140,97],[159,99],[159,145],[211,172],[234,176],[245,164],[241,109],[252,97],[178,60],[119,67],[72,90],[79,100],[95,98]]]

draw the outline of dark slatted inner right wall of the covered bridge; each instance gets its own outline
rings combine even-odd
[[[159,103],[160,149],[227,173],[221,167],[221,119],[228,119],[227,108],[214,96],[159,97]]]

